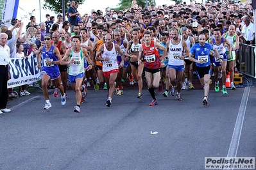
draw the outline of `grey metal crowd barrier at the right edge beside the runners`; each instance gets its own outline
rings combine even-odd
[[[240,73],[247,75],[252,78],[256,78],[256,47],[253,45],[247,45],[242,43],[240,46]]]

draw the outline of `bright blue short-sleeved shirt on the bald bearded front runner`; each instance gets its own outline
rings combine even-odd
[[[196,66],[210,65],[210,50],[213,50],[213,47],[210,43],[205,43],[203,46],[201,46],[199,43],[196,43],[191,47],[191,53],[194,54],[195,58],[198,60],[203,60],[203,64],[196,63]]]

